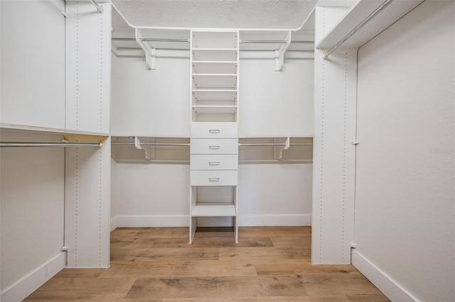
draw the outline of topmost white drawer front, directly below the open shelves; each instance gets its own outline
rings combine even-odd
[[[191,123],[191,138],[238,138],[237,123]]]

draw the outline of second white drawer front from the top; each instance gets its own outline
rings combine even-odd
[[[239,140],[228,139],[191,139],[191,154],[238,154]]]

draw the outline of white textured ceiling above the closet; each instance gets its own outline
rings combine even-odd
[[[112,0],[133,27],[296,29],[317,0]]]

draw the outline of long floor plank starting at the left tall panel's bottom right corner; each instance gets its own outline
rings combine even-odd
[[[201,260],[197,262],[111,262],[101,277],[129,276],[173,278],[176,276],[257,276],[255,267],[248,263]]]

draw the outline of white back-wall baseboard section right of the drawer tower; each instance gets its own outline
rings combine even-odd
[[[311,215],[239,215],[239,226],[310,226]]]

